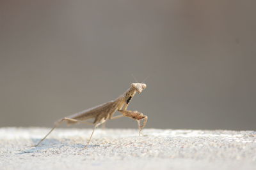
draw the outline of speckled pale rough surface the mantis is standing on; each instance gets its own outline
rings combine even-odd
[[[256,169],[255,131],[1,128],[0,169]]]

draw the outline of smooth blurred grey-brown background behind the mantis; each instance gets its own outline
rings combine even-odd
[[[255,130],[255,6],[1,0],[0,126],[50,127],[120,96],[134,74],[150,76],[129,106],[147,128]],[[106,126],[137,128],[129,118]]]

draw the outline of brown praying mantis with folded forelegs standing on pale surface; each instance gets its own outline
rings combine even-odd
[[[38,146],[42,141],[44,141],[45,138],[51,132],[58,127],[61,122],[67,122],[67,124],[76,124],[76,123],[84,123],[84,124],[90,124],[94,125],[92,134],[90,136],[90,139],[88,140],[87,145],[90,143],[90,140],[92,138],[93,132],[95,131],[96,127],[103,124],[109,119],[116,119],[121,117],[129,117],[136,121],[138,121],[138,126],[141,130],[145,125],[147,124],[148,117],[143,115],[143,113],[140,113],[138,111],[131,111],[127,110],[127,107],[132,99],[132,97],[138,92],[139,94],[142,92],[142,90],[146,89],[147,85],[145,83],[132,83],[131,87],[124,92],[120,97],[117,97],[113,101],[109,101],[108,103],[100,104],[99,106],[95,106],[94,108],[90,108],[88,110],[81,111],[79,113],[76,113],[74,115],[70,115],[69,117],[61,118],[57,122],[54,123],[54,127],[52,127],[51,131],[48,132],[48,134],[45,135],[43,139],[39,141],[39,143],[35,146]],[[116,117],[113,117],[114,113],[116,111],[119,111],[122,113],[122,115],[118,115]],[[90,118],[94,118],[94,121],[91,122],[84,122],[83,120],[88,120]],[[143,125],[140,125],[140,121],[144,120]],[[140,134],[139,132],[139,134]]]

